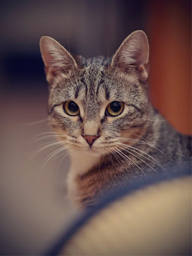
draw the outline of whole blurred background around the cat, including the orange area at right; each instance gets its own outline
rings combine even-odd
[[[66,197],[68,158],[44,168],[50,151],[32,158],[49,140],[31,141],[51,131],[41,36],[93,57],[113,55],[131,32],[144,30],[151,101],[191,134],[191,7],[190,0],[1,0],[1,255],[40,253],[77,214]]]

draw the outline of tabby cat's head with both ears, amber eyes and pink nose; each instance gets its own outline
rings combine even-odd
[[[49,120],[60,140],[77,150],[106,154],[120,137],[143,134],[149,70],[143,31],[129,35],[111,61],[73,57],[47,36],[40,47],[49,83]]]

